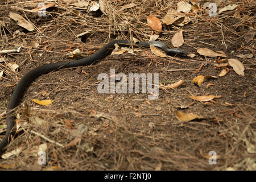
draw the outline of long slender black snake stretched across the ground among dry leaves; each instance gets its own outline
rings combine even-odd
[[[180,48],[169,49],[166,44],[158,41],[138,42],[133,44],[133,43],[130,43],[128,40],[113,40],[112,42],[109,42],[108,44],[106,44],[106,46],[98,50],[96,53],[88,57],[75,60],[75,61],[63,61],[63,62],[57,62],[57,63],[44,64],[37,68],[32,69],[20,79],[18,84],[15,86],[13,94],[11,95],[9,105],[7,107],[7,113],[6,113],[7,129],[6,129],[5,137],[2,139],[0,143],[0,152],[8,144],[9,135],[15,123],[14,109],[16,106],[19,105],[20,98],[22,97],[24,90],[27,88],[28,84],[30,84],[36,77],[47,74],[52,71],[56,71],[57,69],[90,65],[90,64],[93,64],[94,61],[96,60],[104,59],[104,57],[106,57],[113,51],[113,49],[115,48],[114,44],[118,44],[118,46],[121,46],[121,47],[130,47],[131,45],[135,47],[136,46],[150,47],[150,44],[152,44],[155,47],[161,48],[168,55],[179,55],[179,56],[187,55],[187,52],[184,49],[180,49]]]

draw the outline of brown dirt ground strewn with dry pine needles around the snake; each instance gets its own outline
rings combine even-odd
[[[109,18],[110,14],[114,16],[112,10],[118,11],[131,2],[138,6],[123,10],[129,26],[126,24],[123,29],[115,29],[121,26],[123,16],[118,16],[119,19],[114,21]],[[181,48],[188,53],[195,53],[196,57],[160,58],[153,55],[149,48],[143,48],[136,55],[110,55],[88,67],[61,69],[36,78],[22,99],[30,111],[26,110],[26,106],[19,105],[20,119],[16,122],[22,127],[13,134],[13,140],[5,153],[20,147],[22,151],[8,159],[0,159],[0,169],[225,170],[231,167],[236,170],[255,170],[255,55],[251,59],[240,59],[236,55],[254,54],[255,39],[250,42],[245,40],[247,36],[255,34],[253,23],[256,6],[254,1],[221,2],[219,7],[232,3],[240,6],[214,18],[209,18],[203,10],[197,15],[187,14],[191,22],[182,27],[185,43]],[[144,26],[147,16],[154,14],[163,19],[168,10],[164,8],[172,5],[176,9],[177,1],[112,0],[108,1],[109,7],[112,7],[107,9],[110,12],[108,16],[98,11],[87,13],[86,10],[79,10],[81,15],[76,16],[68,11],[71,9],[68,9],[67,3],[56,1],[55,7],[47,9],[49,13],[46,18],[23,11],[37,7],[34,1],[26,3],[10,1],[8,6],[4,3],[0,5],[0,20],[6,23],[6,27],[1,27],[0,49],[23,44],[19,53],[2,55],[6,63],[14,61],[18,64],[19,72],[14,73],[6,63],[0,63],[0,71],[5,71],[4,78],[0,80],[0,114],[6,111],[14,84],[32,68],[45,63],[72,60],[68,58],[67,52],[61,51],[70,46],[72,50],[83,48],[84,53],[88,53],[88,49],[99,49],[118,35],[121,39],[129,39],[132,35],[140,40],[148,40],[144,35],[150,35],[152,30]],[[8,16],[11,11],[27,16],[43,34],[39,31],[28,32],[16,25]],[[24,34],[14,38],[16,30]],[[83,42],[76,39],[75,35],[88,30],[90,32]],[[176,26],[163,24],[159,40],[172,47],[171,39],[176,31]],[[225,47],[222,33],[228,48]],[[40,46],[32,48],[32,42],[38,42]],[[196,52],[200,47],[225,52],[228,57],[224,63],[229,58],[238,58],[245,66],[245,76],[237,75],[232,67],[228,67],[230,72],[224,77],[205,81],[200,86],[193,84],[192,80],[196,76],[217,76],[221,71],[214,69],[218,58],[200,56]],[[201,71],[195,72],[201,64]],[[126,75],[159,73],[159,81],[162,82],[185,82],[174,90],[159,89],[157,100],[148,100],[148,94],[141,93],[100,94],[97,92],[97,76],[100,73],[109,75],[110,68],[115,68],[115,73]],[[207,88],[208,84],[214,86]],[[214,103],[204,104],[189,98],[191,94],[211,94],[221,98],[215,98]],[[52,99],[54,102],[42,106],[32,102],[31,98]],[[226,105],[226,102],[232,106]],[[181,109],[181,106],[187,107]],[[199,114],[204,119],[180,122],[175,116],[176,110]],[[27,123],[26,115],[29,115],[30,121],[31,118],[39,117],[47,122],[42,125]],[[0,115],[0,126],[6,125],[5,121],[5,117]],[[86,125],[88,131],[79,138],[77,126],[81,124]],[[0,138],[5,134],[5,129],[5,126],[0,128]],[[75,139],[81,142],[62,148],[33,131],[64,146]],[[40,166],[35,151],[43,143],[47,143],[47,163]],[[219,157],[216,165],[208,163],[209,151],[216,151]]]

